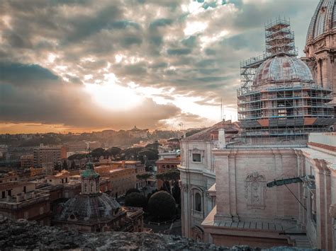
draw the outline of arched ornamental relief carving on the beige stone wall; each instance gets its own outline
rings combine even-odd
[[[248,209],[265,208],[266,179],[257,171],[247,175],[245,179],[245,199]]]

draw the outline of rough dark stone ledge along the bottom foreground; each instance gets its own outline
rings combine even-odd
[[[0,220],[0,250],[245,250],[249,247],[216,247],[174,235],[150,233],[78,233],[39,226],[32,221]],[[300,250],[274,247],[272,251]]]

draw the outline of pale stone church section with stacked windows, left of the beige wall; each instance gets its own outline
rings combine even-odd
[[[213,148],[218,144],[218,130],[225,128],[226,141],[239,131],[237,124],[220,122],[213,127],[181,139],[181,223],[182,235],[197,240],[211,241],[204,235],[203,219],[213,209],[208,189],[215,183]]]

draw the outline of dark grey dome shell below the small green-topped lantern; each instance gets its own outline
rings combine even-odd
[[[121,205],[107,194],[79,194],[69,199],[57,214],[59,221],[111,221],[121,212]]]

